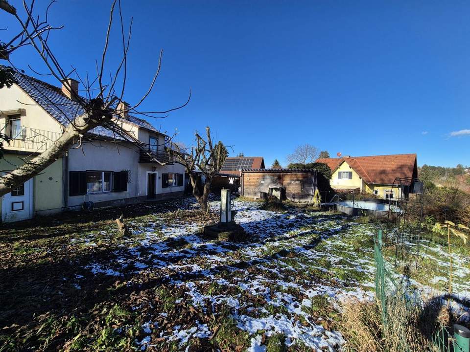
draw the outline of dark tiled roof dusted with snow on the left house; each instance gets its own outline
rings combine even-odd
[[[1,66],[0,69],[6,68]],[[69,126],[70,122],[82,113],[82,107],[75,101],[69,99],[59,87],[52,86],[44,81],[25,75],[14,70],[15,83],[24,90],[38,105],[56,119],[64,127]],[[147,121],[136,116],[129,115],[126,122],[137,125],[152,132],[160,133]],[[89,131],[90,134],[124,140],[124,138],[110,129],[102,126],[95,127]]]

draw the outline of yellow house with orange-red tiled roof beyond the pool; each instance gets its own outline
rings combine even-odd
[[[357,189],[384,199],[400,198],[397,178],[401,178],[401,184],[409,185],[418,177],[416,154],[344,156],[316,162],[325,163],[331,169],[333,189]]]

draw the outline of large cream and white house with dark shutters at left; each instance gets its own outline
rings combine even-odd
[[[78,82],[69,82],[78,92]],[[15,84],[0,89],[0,130],[12,138],[3,143],[0,171],[45,151],[81,113],[64,86],[15,73]],[[79,209],[84,201],[100,207],[182,195],[184,167],[165,163],[167,136],[125,112],[118,117],[126,132],[94,128],[40,175],[1,197],[2,221]]]

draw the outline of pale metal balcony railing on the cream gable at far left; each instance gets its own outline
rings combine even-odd
[[[0,132],[10,138],[10,143],[3,141],[5,149],[44,152],[62,134],[58,132],[32,129],[23,126],[0,123]]]

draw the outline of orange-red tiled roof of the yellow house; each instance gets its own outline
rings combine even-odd
[[[366,183],[370,184],[393,184],[397,177],[414,178],[418,176],[416,154],[345,156],[322,158],[316,161],[327,164],[332,172],[344,161]]]

